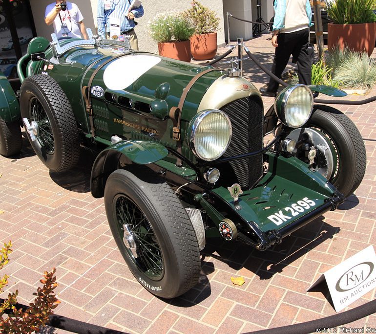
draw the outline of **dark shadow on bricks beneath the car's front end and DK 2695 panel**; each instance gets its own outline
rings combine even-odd
[[[215,274],[216,267],[228,271],[228,280],[231,276],[242,276],[241,273],[231,273],[233,270],[246,269],[257,280],[269,280],[275,273],[283,272],[294,261],[304,257],[315,247],[332,239],[339,232],[339,227],[325,223],[321,216],[292,235],[286,237],[282,244],[274,245],[266,251],[258,251],[249,245],[239,242],[226,242],[221,237],[210,238],[201,251],[201,274],[199,283],[182,296],[164,300],[170,305],[188,308],[203,302],[211,295],[209,278]],[[227,268],[226,268],[227,267]],[[229,270],[229,267],[232,269]],[[231,272],[230,272],[231,271]],[[209,277],[208,277],[209,276]],[[245,277],[246,283],[250,282]],[[324,291],[325,294],[325,291]]]

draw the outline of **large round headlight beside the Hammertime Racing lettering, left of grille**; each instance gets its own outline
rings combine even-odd
[[[190,123],[189,146],[200,159],[218,159],[227,150],[232,134],[229,117],[220,110],[209,109],[198,113]]]

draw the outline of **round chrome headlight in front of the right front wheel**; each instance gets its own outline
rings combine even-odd
[[[305,85],[283,89],[275,98],[274,110],[283,124],[291,128],[304,125],[313,110],[313,94]]]

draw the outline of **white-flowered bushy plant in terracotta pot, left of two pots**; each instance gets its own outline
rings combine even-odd
[[[148,30],[161,56],[190,62],[190,41],[194,29],[181,14],[160,14],[148,23]]]

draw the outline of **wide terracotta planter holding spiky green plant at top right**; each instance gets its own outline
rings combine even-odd
[[[328,24],[328,49],[345,45],[354,51],[366,51],[371,56],[375,47],[376,23]]]

